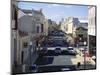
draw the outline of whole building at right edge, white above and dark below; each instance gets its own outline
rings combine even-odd
[[[96,6],[88,7],[89,52],[96,56]]]

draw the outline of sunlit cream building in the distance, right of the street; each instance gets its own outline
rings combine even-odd
[[[68,17],[67,19],[62,21],[61,30],[63,30],[67,34],[73,34],[73,31],[78,26],[79,26],[78,18]]]

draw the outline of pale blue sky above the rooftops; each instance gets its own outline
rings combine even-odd
[[[19,2],[18,7],[21,9],[34,9],[42,12],[46,18],[59,23],[62,18],[78,17],[80,21],[88,21],[88,6],[82,5],[64,5],[64,4],[48,4],[35,2]]]

